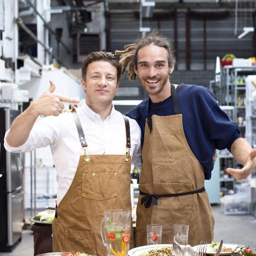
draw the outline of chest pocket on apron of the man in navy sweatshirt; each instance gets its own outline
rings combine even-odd
[[[152,162],[172,163],[174,152],[174,135],[153,135],[152,136]],[[161,148],[158,146],[161,145]]]

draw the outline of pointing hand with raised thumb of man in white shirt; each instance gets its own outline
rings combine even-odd
[[[43,95],[31,103],[31,108],[37,115],[58,116],[62,113],[64,105],[62,102],[78,103],[79,99],[66,98],[54,94],[55,84],[50,81],[50,87]]]

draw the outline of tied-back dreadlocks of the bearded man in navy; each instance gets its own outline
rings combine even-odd
[[[173,47],[169,39],[164,37],[160,30],[154,30],[144,38],[138,38],[134,44],[125,45],[123,51],[116,51],[115,54],[121,54],[120,64],[122,67],[121,77],[124,76],[126,68],[129,66],[128,78],[133,81],[136,79],[134,68],[138,68],[138,52],[141,48],[148,45],[156,45],[164,47],[168,53],[168,65],[172,67],[175,65],[175,56]]]

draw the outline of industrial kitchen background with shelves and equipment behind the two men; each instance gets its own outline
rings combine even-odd
[[[171,81],[207,87],[256,147],[255,17],[252,0],[0,0],[0,109],[21,113],[48,88],[49,79],[57,85],[57,94],[83,99],[79,67],[86,54],[123,49],[159,28],[177,54]],[[125,113],[146,97],[139,82],[125,76],[115,106]],[[22,228],[30,227],[29,218],[55,205],[57,191],[50,148],[15,159],[5,154],[6,116],[1,118],[0,141],[2,251],[19,243]],[[23,193],[15,206],[4,194],[13,166],[21,173]],[[213,177],[206,181],[212,205],[220,205],[230,218],[256,217],[256,172],[236,182],[226,173],[227,166],[238,164],[228,151],[218,151]],[[131,170],[131,175],[138,174]],[[135,204],[137,188],[132,186]]]

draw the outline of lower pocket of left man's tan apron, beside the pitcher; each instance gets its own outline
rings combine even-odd
[[[93,232],[66,230],[65,252],[95,254]]]

